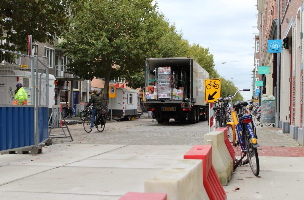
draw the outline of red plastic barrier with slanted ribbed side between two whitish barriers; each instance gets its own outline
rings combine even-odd
[[[226,192],[219,181],[212,165],[212,146],[194,145],[184,159],[199,159],[203,161],[203,183],[210,200],[226,199]]]

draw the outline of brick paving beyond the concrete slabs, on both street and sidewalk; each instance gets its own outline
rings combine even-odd
[[[208,122],[189,124],[171,120],[168,124],[152,122],[150,118],[135,121],[110,122],[105,131],[93,129],[86,133],[82,124],[70,125],[74,141],[69,138],[54,139],[53,143],[74,144],[133,144],[133,145],[194,145],[204,144],[204,135],[209,132]],[[54,129],[52,134],[62,132]],[[304,157],[304,147],[281,129],[257,126],[260,156]]]

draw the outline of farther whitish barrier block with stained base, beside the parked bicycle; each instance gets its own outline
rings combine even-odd
[[[212,145],[212,165],[222,185],[228,185],[233,171],[233,160],[224,141],[224,131],[205,134],[205,144]]]

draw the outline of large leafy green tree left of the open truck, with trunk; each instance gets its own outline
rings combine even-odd
[[[84,79],[104,77],[108,88],[112,68],[142,68],[147,52],[161,37],[156,7],[152,0],[83,1],[60,44],[70,58],[68,71]],[[106,98],[108,90],[104,91]]]

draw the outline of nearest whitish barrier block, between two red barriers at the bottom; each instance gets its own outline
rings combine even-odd
[[[168,200],[209,199],[200,160],[178,160],[145,181],[145,192],[166,193]]]

